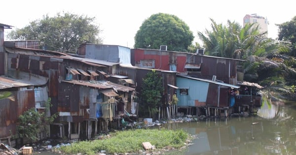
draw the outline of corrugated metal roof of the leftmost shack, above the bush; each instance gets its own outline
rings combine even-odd
[[[25,75],[25,74],[23,74]],[[7,76],[0,76],[0,89],[12,88],[12,87],[26,87],[26,86],[40,86],[45,85],[47,78],[43,77],[31,77],[22,76],[21,79],[13,79]]]

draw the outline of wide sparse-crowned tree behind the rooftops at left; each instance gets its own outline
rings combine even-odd
[[[22,29],[8,33],[9,39],[40,40],[43,49],[74,53],[82,43],[102,43],[99,26],[92,24],[95,17],[71,13],[57,13],[35,20]]]

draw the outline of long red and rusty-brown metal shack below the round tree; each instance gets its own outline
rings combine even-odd
[[[162,46],[161,46],[162,47]],[[212,57],[198,53],[166,51],[165,48],[131,49],[134,66],[177,71],[181,75],[237,84],[237,62],[242,60]]]

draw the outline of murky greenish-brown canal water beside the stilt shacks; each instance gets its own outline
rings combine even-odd
[[[264,102],[257,116],[163,124],[196,137],[186,149],[165,155],[296,155],[295,118],[296,103]]]

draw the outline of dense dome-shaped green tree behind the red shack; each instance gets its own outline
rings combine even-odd
[[[184,21],[175,15],[157,13],[145,20],[135,36],[135,48],[159,49],[167,45],[169,51],[187,52],[194,36]]]

